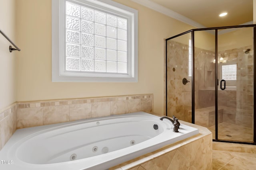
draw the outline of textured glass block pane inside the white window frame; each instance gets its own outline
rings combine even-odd
[[[127,74],[127,19],[66,1],[66,71]]]

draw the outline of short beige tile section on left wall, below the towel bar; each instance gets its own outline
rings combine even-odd
[[[17,107],[18,105],[14,103],[0,110],[0,149],[17,129]]]

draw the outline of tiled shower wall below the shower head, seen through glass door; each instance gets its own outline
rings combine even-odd
[[[245,49],[252,49],[252,46],[246,46],[236,49],[221,51],[221,54],[228,56],[228,60],[236,59],[236,91],[231,91],[232,95],[223,95],[225,90],[220,90],[218,94],[224,98],[220,98],[218,105],[230,107],[224,109],[224,122],[242,125],[245,127],[253,127],[253,55],[245,54]],[[228,63],[228,61],[227,61]],[[228,97],[232,96],[232,98]],[[225,100],[229,98],[230,100]]]

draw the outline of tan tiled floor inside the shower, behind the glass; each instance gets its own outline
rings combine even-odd
[[[215,125],[208,127],[215,139]],[[253,129],[242,127],[231,123],[222,122],[218,124],[218,139],[227,141],[253,141]]]

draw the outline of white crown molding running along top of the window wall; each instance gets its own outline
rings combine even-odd
[[[166,16],[169,16],[171,18],[174,18],[176,20],[179,20],[179,21],[182,21],[184,23],[187,23],[189,25],[192,25],[193,27],[196,27],[196,28],[205,28],[204,25],[194,21],[194,20],[191,20],[185,16],[182,16],[180,15],[179,13],[177,12],[174,12],[173,10],[170,10],[164,6],[161,6],[159,4],[156,4],[155,2],[152,2],[152,1],[149,1],[149,0],[131,0],[133,2],[136,2],[137,4],[140,4],[140,5],[143,5],[143,6],[146,6],[152,10],[155,10],[157,12],[160,12]]]

